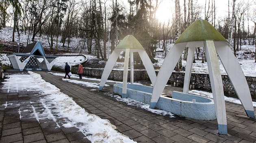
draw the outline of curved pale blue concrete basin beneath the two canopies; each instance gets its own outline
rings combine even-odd
[[[114,84],[113,92],[122,98],[130,98],[150,104],[153,87],[139,84],[127,84],[127,93],[122,93],[123,84]],[[161,96],[156,103],[157,109],[197,120],[215,120],[213,99],[172,91],[172,98]]]

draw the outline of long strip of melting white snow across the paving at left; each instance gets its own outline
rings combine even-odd
[[[65,127],[76,127],[81,131],[91,142],[106,142],[106,143],[132,143],[127,136],[117,132],[116,127],[108,120],[103,120],[94,114],[88,114],[85,109],[81,108],[64,93],[61,93],[59,88],[46,82],[39,74],[28,71],[29,74],[14,74],[10,75],[9,79],[5,79],[3,89],[8,89],[8,92],[19,92],[21,90],[39,91],[42,95],[40,102],[43,103],[46,109],[44,113],[47,116],[39,116],[34,112],[35,118],[51,119],[56,122],[56,115],[66,119]],[[25,84],[26,82],[26,84]],[[4,104],[8,106],[8,104]],[[22,112],[22,111],[21,111]]]

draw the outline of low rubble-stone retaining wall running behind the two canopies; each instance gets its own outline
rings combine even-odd
[[[72,67],[72,71],[74,73],[77,72],[76,67]],[[101,78],[103,69],[93,69],[93,68],[84,68],[84,75],[86,76],[92,76],[92,77],[97,77]],[[156,71],[156,74],[158,74],[158,71]],[[148,74],[146,70],[135,70],[134,71],[134,80],[150,80],[148,77]],[[174,84],[176,82],[177,85],[177,79],[178,80],[184,80],[184,72],[173,72],[171,74],[171,77],[168,81],[168,84]],[[232,83],[230,82],[229,78],[227,75],[222,75],[222,82],[223,82],[223,89],[224,93],[227,95],[231,95],[236,98],[234,87],[232,86]],[[123,71],[122,70],[112,70],[110,76],[108,77],[109,80],[118,80],[118,81],[123,81]],[[130,71],[128,71],[128,80],[130,80]],[[256,100],[256,77],[246,77],[252,99]],[[183,82],[183,81],[178,81],[178,82]],[[192,83],[193,82],[193,83]],[[193,85],[194,89],[200,89],[200,90],[206,90],[206,91],[211,91],[210,87],[210,78],[208,74],[191,74],[191,85]],[[182,83],[178,83],[178,86],[183,87]],[[192,87],[192,86],[191,86]]]

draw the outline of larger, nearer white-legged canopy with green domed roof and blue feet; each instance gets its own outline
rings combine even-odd
[[[184,77],[183,93],[188,93],[189,91],[195,47],[204,47],[206,59],[208,61],[208,71],[215,103],[219,133],[224,135],[228,134],[226,107],[218,56],[226,69],[247,116],[255,118],[252,97],[240,64],[232,50],[229,48],[227,40],[205,20],[197,20],[193,22],[181,34],[180,38],[176,40],[176,43],[167,54],[161,69],[158,72],[152,93],[150,108],[154,108],[158,102],[158,99],[161,96],[161,93],[163,92],[163,89],[165,88],[165,85],[185,47],[189,47],[189,52]]]

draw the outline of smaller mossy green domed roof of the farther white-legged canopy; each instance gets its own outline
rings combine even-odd
[[[118,48],[130,48],[130,49],[142,49],[144,50],[143,46],[139,43],[139,41],[132,35],[127,35],[124,37],[123,40],[115,47]]]

